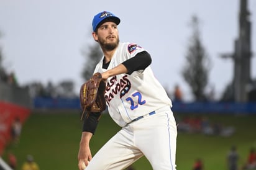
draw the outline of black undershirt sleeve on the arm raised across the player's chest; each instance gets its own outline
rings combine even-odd
[[[128,69],[127,74],[132,74],[140,69],[144,70],[152,62],[151,56],[147,51],[137,53],[134,57],[124,61],[122,64]]]

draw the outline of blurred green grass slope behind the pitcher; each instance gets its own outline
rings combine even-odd
[[[177,114],[175,117],[181,118],[183,115]],[[196,158],[203,159],[205,170],[227,169],[226,155],[232,145],[237,146],[241,166],[247,159],[250,147],[256,147],[256,116],[211,114],[208,117],[212,122],[218,121],[223,125],[235,127],[234,135],[227,138],[178,133],[177,169],[190,170]],[[21,169],[27,154],[34,156],[41,170],[78,169],[77,153],[81,125],[79,112],[33,112],[24,123],[20,142],[8,146],[3,158],[7,159],[8,151],[14,153],[18,169]],[[119,129],[109,115],[103,115],[91,140],[91,152],[96,153]],[[136,170],[152,169],[144,157],[133,166]]]

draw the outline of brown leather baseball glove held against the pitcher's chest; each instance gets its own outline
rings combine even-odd
[[[80,104],[83,109],[81,120],[87,112],[86,117],[91,112],[102,112],[106,109],[105,101],[106,83],[101,77],[101,73],[95,73],[86,81],[80,89]]]

